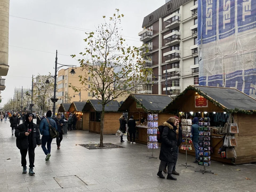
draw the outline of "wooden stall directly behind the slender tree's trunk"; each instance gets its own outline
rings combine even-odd
[[[119,129],[119,118],[122,113],[118,112],[118,101],[113,100],[105,106],[103,134],[115,134]],[[102,105],[96,99],[89,99],[83,107],[83,119],[88,121],[89,132],[100,134]]]

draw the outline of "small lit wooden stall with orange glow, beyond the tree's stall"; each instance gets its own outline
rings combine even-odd
[[[72,113],[76,115],[77,117],[77,123],[75,128],[78,130],[86,130],[83,129],[83,112],[82,109],[85,106],[86,102],[79,102],[79,101],[74,101],[71,103],[69,107],[69,113]]]

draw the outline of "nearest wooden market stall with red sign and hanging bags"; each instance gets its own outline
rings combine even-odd
[[[179,115],[209,117],[211,134],[211,160],[233,164],[256,162],[256,100],[233,88],[189,86],[178,95],[163,111],[178,110]],[[192,115],[193,114],[193,115]],[[224,114],[224,115],[223,115]],[[239,133],[235,134],[237,158],[221,158],[218,154],[223,144],[224,134],[214,131],[224,126],[227,116],[232,114],[238,125]],[[190,117],[191,119],[193,117]],[[179,150],[185,153],[185,150]],[[194,147],[187,151],[195,155]]]

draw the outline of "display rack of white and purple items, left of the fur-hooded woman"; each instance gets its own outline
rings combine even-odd
[[[149,158],[157,159],[153,156],[154,149],[158,149],[157,131],[158,114],[147,114],[147,148],[152,149],[152,155]]]

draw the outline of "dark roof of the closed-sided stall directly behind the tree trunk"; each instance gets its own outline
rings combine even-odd
[[[93,107],[95,111],[102,111],[102,105],[98,99],[89,99],[86,102],[86,105],[83,107],[83,112],[90,111],[90,108]],[[107,105],[105,105],[106,112],[117,112],[119,103],[117,100],[112,100]]]

